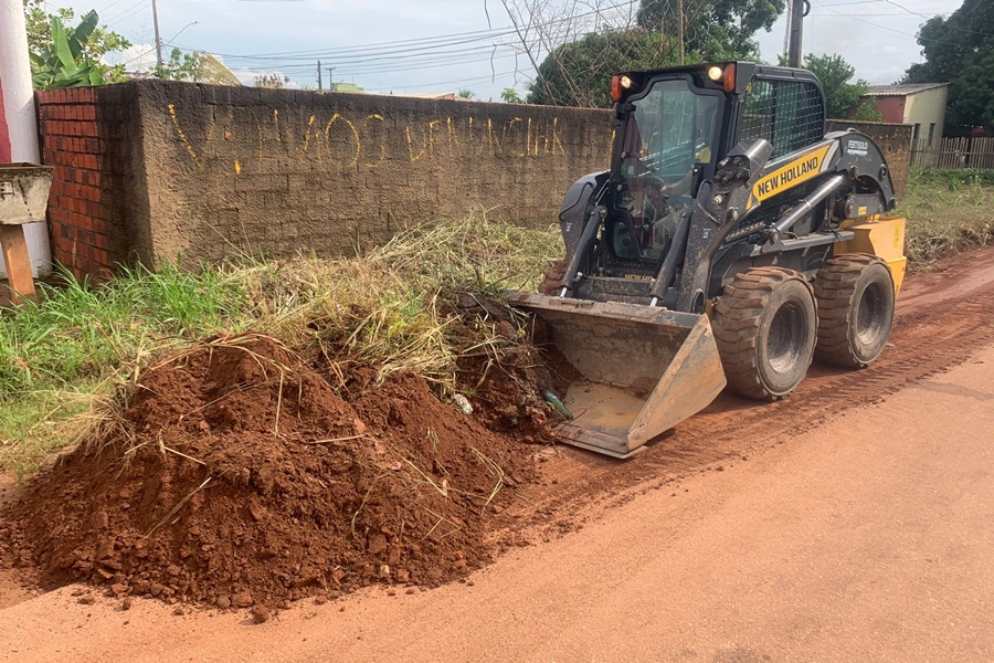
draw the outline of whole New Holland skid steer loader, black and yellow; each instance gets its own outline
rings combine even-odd
[[[509,293],[583,376],[572,444],[625,457],[728,385],[789,394],[812,357],[859,368],[887,345],[905,220],[887,162],[825,133],[810,72],[745,62],[613,77],[611,168],[560,211],[565,259]]]

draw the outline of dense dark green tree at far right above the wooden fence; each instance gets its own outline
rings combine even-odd
[[[926,61],[901,83],[949,83],[947,126],[994,128],[994,2],[964,0],[949,18],[918,31]]]

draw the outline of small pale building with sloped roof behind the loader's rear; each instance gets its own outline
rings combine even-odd
[[[909,124],[912,152],[934,152],[938,157],[945,126],[949,83],[871,85],[860,99],[873,99],[884,122]]]

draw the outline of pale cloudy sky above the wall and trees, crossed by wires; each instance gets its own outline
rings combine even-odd
[[[522,0],[508,0],[524,4]],[[585,0],[580,23],[599,17],[624,20],[637,0]],[[688,0],[689,1],[689,0]],[[921,61],[914,34],[927,18],[949,15],[961,0],[811,0],[804,22],[804,52],[838,53],[870,84],[897,81]],[[114,57],[129,71],[155,64],[151,0],[63,0],[50,7],[96,9],[135,46]],[[173,46],[219,55],[244,82],[281,72],[293,86],[355,83],[380,93],[441,93],[469,90],[498,101],[515,87],[524,96],[533,72],[501,0],[157,0],[160,35]],[[595,7],[602,13],[590,8]],[[922,15],[923,14],[923,15]],[[549,19],[551,20],[551,19]],[[565,21],[554,23],[562,27]],[[785,18],[760,32],[762,56],[783,52]],[[519,49],[520,50],[520,49]]]

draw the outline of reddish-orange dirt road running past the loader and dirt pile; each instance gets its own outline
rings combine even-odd
[[[960,262],[870,369],[722,397],[627,463],[551,455],[507,536],[537,545],[472,586],[262,625],[68,587],[0,610],[0,660],[992,661],[994,251]]]

